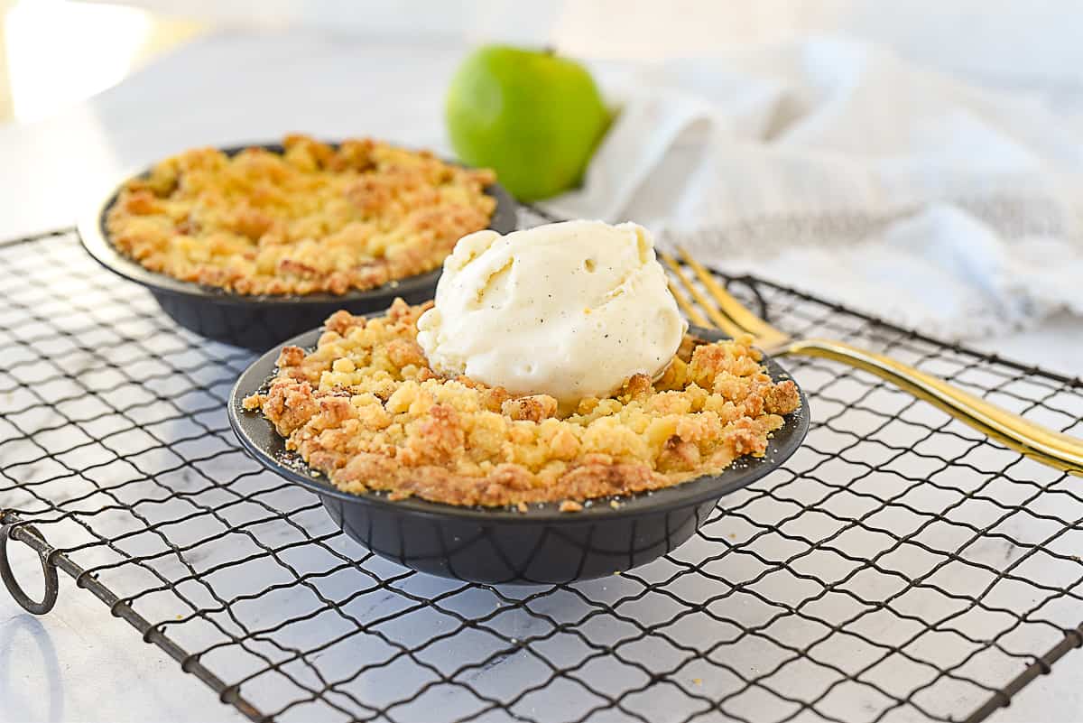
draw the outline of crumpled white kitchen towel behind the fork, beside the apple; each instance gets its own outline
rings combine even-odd
[[[619,115],[556,213],[638,221],[940,336],[1083,314],[1079,117],[832,38],[616,82]]]

